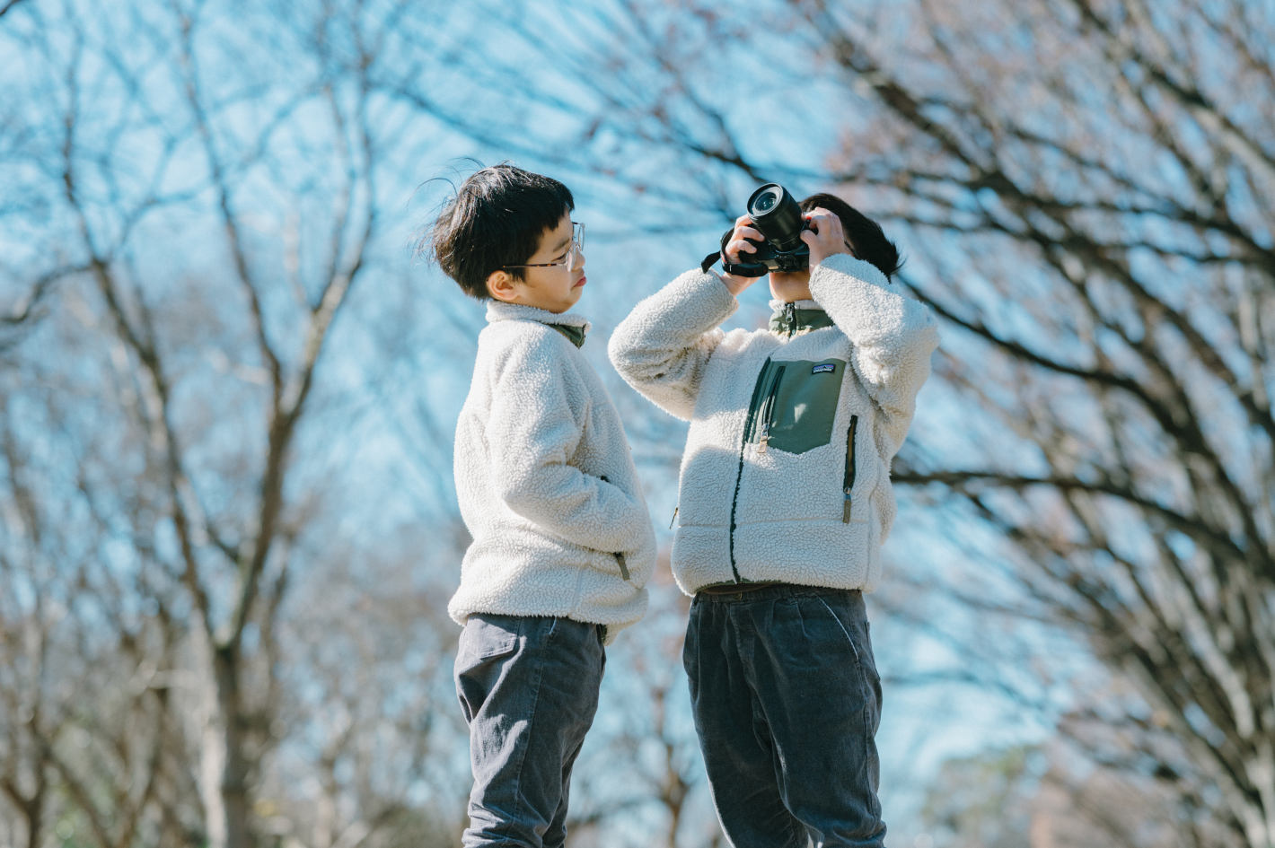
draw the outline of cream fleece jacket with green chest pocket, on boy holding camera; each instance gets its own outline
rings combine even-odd
[[[829,256],[813,302],[776,329],[724,333],[738,303],[691,270],[611,337],[616,370],[691,422],[672,566],[687,594],[779,580],[876,588],[895,516],[890,460],[912,422],[938,334],[929,311],[870,263]]]

